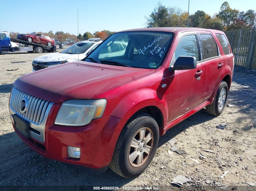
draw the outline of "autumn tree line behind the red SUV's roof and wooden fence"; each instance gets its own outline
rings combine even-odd
[[[212,17],[204,11],[198,10],[189,15],[177,7],[166,7],[161,2],[154,8],[149,17],[145,17],[147,27],[199,27],[216,30],[235,30],[252,28],[256,25],[256,12],[252,9],[239,11],[232,9],[228,2],[222,3],[218,13]]]

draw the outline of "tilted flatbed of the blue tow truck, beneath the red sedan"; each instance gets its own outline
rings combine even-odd
[[[45,44],[39,44],[39,43],[33,43],[33,42],[30,43],[26,40],[20,40],[15,38],[11,38],[11,41],[15,43],[25,44],[25,47],[19,47],[18,51],[28,51],[29,53],[53,52],[53,46],[47,46]]]

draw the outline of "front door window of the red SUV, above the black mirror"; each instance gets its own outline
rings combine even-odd
[[[181,37],[180,41],[174,52],[173,62],[175,62],[179,56],[194,56],[196,61],[199,61],[199,51],[196,35],[187,35]]]

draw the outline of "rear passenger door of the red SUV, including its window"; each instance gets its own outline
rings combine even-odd
[[[224,59],[210,32],[199,33],[202,56],[205,66],[204,90],[201,103],[213,99],[214,94],[222,80],[222,75],[226,73]]]

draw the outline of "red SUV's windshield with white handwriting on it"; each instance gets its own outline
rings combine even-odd
[[[88,58],[88,62],[135,68],[157,68],[169,49],[172,33],[131,31],[111,35]]]

